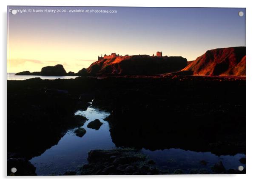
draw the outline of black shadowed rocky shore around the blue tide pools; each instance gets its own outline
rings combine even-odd
[[[163,75],[7,80],[7,99],[8,175],[14,163],[26,166],[17,175],[36,175],[28,160],[58,143],[68,129],[82,126],[86,118],[74,113],[86,109],[92,100],[94,107],[111,112],[106,120],[117,147],[245,154],[244,77]],[[98,126],[92,128],[97,130]],[[129,152],[119,151],[111,156],[122,157],[121,153]],[[111,156],[104,159],[103,167],[113,165]],[[90,158],[88,161],[91,162],[82,173],[95,174],[96,168],[90,166],[101,163]],[[117,170],[118,166],[110,169]],[[136,170],[139,167],[134,166]],[[118,173],[125,174],[126,168]],[[99,174],[108,173],[102,172],[102,167],[98,170]],[[129,174],[134,172],[131,170]],[[139,174],[148,172],[153,173],[149,170]],[[164,174],[161,169],[158,172]]]

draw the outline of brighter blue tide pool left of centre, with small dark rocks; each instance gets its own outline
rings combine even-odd
[[[37,175],[58,175],[65,171],[77,171],[87,163],[88,151],[115,147],[110,137],[108,122],[103,120],[109,113],[88,107],[86,111],[77,111],[75,115],[86,116],[89,119],[82,126],[86,134],[80,138],[74,134],[75,129],[69,130],[57,145],[52,146],[42,155],[32,158],[30,162],[37,168]],[[87,124],[94,119],[100,119],[103,123],[99,130],[87,127]]]

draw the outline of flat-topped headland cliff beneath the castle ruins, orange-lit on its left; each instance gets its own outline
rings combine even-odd
[[[186,58],[174,56],[118,56],[92,63],[87,68],[87,73],[89,75],[153,75],[179,71],[187,64]]]

